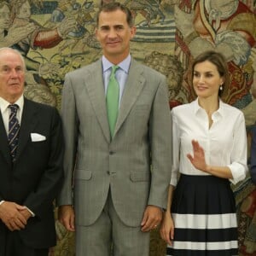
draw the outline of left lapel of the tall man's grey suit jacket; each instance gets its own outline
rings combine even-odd
[[[96,118],[102,127],[102,132],[108,143],[110,142],[110,131],[106,108],[106,96],[102,79],[102,59],[96,61],[90,68],[90,76],[84,79],[90,102],[96,113]]]

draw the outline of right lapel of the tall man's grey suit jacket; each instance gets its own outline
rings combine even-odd
[[[131,59],[131,66],[129,69],[129,75],[125,84],[124,94],[121,99],[121,105],[119,108],[119,116],[115,126],[114,134],[119,131],[119,128],[124,123],[125,118],[131,111],[132,106],[137,101],[137,97],[141,94],[143,86],[145,84],[145,78],[142,75],[143,68],[138,65],[137,61]]]

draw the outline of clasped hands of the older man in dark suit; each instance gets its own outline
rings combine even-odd
[[[4,201],[0,205],[0,218],[9,230],[21,230],[26,226],[26,218],[20,211],[25,210],[26,207],[22,207],[12,201]]]

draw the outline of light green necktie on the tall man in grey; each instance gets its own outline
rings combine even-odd
[[[112,67],[107,90],[108,124],[111,137],[113,137],[113,131],[119,113],[119,82],[115,79],[115,72],[118,68],[118,66]]]

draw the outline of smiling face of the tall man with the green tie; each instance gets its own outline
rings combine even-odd
[[[96,38],[102,44],[103,55],[113,63],[123,61],[130,51],[130,40],[136,27],[130,27],[121,10],[102,12],[96,29]]]

